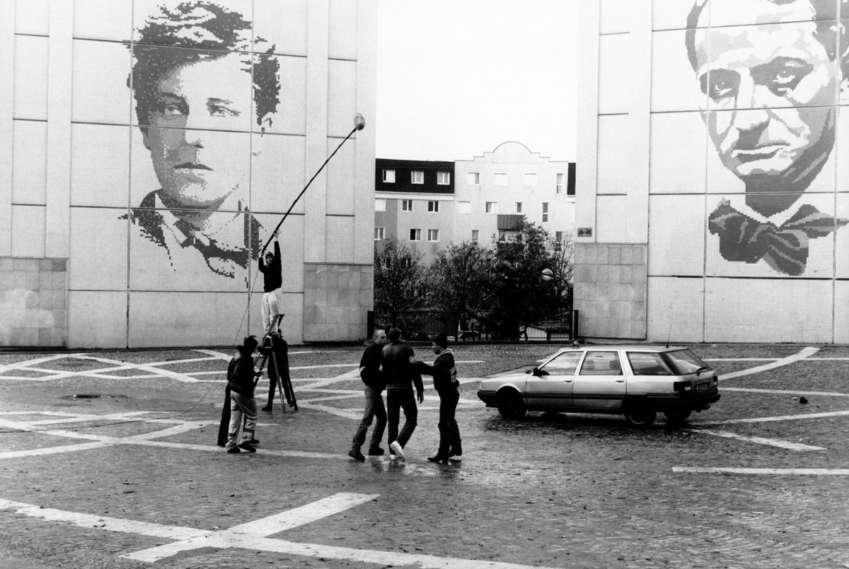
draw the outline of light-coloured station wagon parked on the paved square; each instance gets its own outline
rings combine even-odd
[[[687,348],[566,348],[538,367],[481,381],[478,397],[506,419],[526,411],[623,414],[649,427],[658,412],[680,423],[719,400],[717,372]]]

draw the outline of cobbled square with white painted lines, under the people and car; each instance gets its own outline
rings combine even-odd
[[[430,385],[406,463],[348,459],[358,347],[290,349],[256,455],[215,444],[222,350],[0,353],[0,569],[849,567],[849,348],[694,346],[722,399],[678,429],[476,398],[556,348],[455,348],[446,466]]]

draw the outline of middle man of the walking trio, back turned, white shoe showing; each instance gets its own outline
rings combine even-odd
[[[389,422],[390,458],[404,460],[404,446],[416,429],[416,398],[413,396],[413,383],[416,386],[419,403],[424,402],[422,377],[413,364],[413,349],[403,343],[401,331],[392,328],[389,331],[389,343],[380,352],[380,363],[386,380],[386,416]],[[398,432],[401,410],[404,410],[404,426]]]

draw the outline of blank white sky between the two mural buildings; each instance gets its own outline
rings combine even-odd
[[[577,0],[378,0],[377,157],[575,159]]]

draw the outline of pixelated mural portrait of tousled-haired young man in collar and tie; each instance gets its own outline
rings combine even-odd
[[[127,43],[128,86],[159,184],[131,210],[131,263],[159,271],[155,287],[173,276],[190,279],[187,289],[244,289],[267,237],[250,213],[251,159],[261,152],[250,132],[273,125],[279,64],[232,5],[157,5]]]

